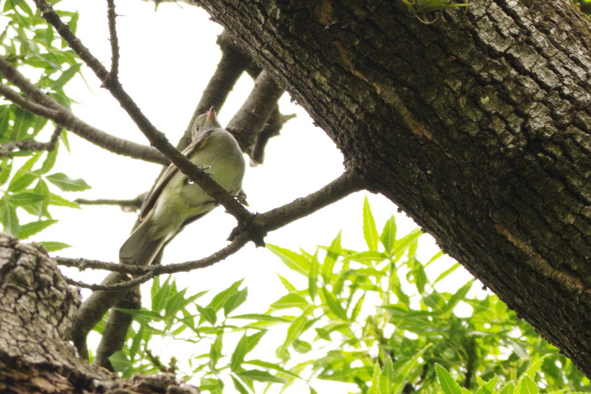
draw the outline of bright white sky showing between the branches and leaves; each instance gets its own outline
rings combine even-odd
[[[154,12],[154,5],[147,2],[116,3],[117,12],[122,15],[117,19],[122,84],[152,123],[176,144],[219,60],[220,51],[215,44],[215,36],[222,28],[209,21],[206,12],[195,6],[161,4]],[[106,2],[64,0],[56,8],[79,10],[79,37],[108,67],[111,54]],[[92,72],[83,67],[83,73],[90,90],[82,79],[76,87],[67,87],[69,95],[80,103],[73,106],[74,113],[103,131],[147,143],[109,93],[100,89]],[[248,76],[239,80],[219,113],[222,124],[228,123],[251,87]],[[252,211],[267,211],[306,196],[343,171],[343,158],[336,146],[321,129],[312,125],[301,107],[290,103],[287,94],[282,97],[280,108],[282,113],[297,113],[297,118],[284,126],[281,136],[271,139],[265,151],[264,165],[247,168],[243,187]],[[113,155],[72,133],[69,138],[72,154],[68,155],[61,146],[56,171],[66,172],[72,178],[82,177],[93,187],[85,193],[71,194],[69,197],[72,199],[134,198],[150,188],[160,171],[157,165]],[[265,240],[284,248],[297,250],[301,247],[313,252],[316,245],[328,245],[343,229],[343,246],[361,249],[364,247],[361,226],[365,194],[349,196],[270,233]],[[381,231],[385,220],[396,212],[397,207],[382,196],[369,194],[369,201]],[[61,220],[60,223],[31,240],[59,240],[73,245],[54,255],[113,262],[117,261],[119,246],[135,221],[135,214],[123,213],[116,207],[84,207],[82,211],[54,208],[53,214]],[[397,220],[399,235],[415,227],[403,214],[397,214]],[[222,209],[215,210],[177,236],[165,250],[163,262],[184,262],[209,255],[226,245],[225,239],[234,226],[235,220],[231,216],[223,213]],[[420,245],[422,261],[427,261],[437,252],[429,236],[423,236]],[[99,271],[83,274],[74,269],[62,271],[90,282],[100,282],[104,276]],[[457,289],[470,278],[465,271],[461,271],[449,291]],[[179,288],[191,286],[192,291],[197,292],[203,289],[219,291],[233,281],[245,278],[249,304],[259,305],[258,311],[264,312],[269,302],[279,297],[269,294],[283,292],[275,272],[288,274],[271,252],[264,248],[255,249],[249,244],[212,268],[177,275],[176,281]],[[212,291],[212,294],[215,292]],[[226,389],[232,392],[233,387],[230,384]]]

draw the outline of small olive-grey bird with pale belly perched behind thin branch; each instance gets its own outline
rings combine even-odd
[[[213,108],[197,118],[193,142],[183,154],[236,196],[242,187],[244,158],[236,139],[217,121]],[[202,123],[202,124],[200,124]],[[178,230],[215,208],[216,201],[169,165],[139,213],[141,223],[119,249],[119,261],[148,265]]]

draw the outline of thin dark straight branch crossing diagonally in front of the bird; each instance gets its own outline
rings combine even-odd
[[[144,133],[150,144],[157,148],[164,154],[171,162],[176,165],[178,170],[187,175],[191,181],[198,184],[209,196],[211,196],[218,203],[232,214],[238,220],[238,222],[248,221],[252,214],[246,210],[235,198],[224,190],[219,184],[217,184],[209,175],[204,171],[200,170],[199,167],[194,165],[189,159],[184,157],[178,149],[174,148],[170,141],[166,138],[163,132],[158,131],[154,125],[146,118],[144,113],[141,112],[137,104],[132,100],[127,92],[121,86],[118,80],[113,79],[109,76],[109,72],[100,63],[100,61],[94,57],[90,51],[82,44],[79,38],[74,35],[70,27],[61,21],[61,18],[57,12],[53,11],[51,4],[46,0],[34,0],[35,4],[43,18],[49,22],[56,31],[61,35],[61,38],[66,40],[66,43],[76,52],[87,66],[90,67],[96,74],[96,76],[103,83],[111,95],[119,102],[121,107],[125,109],[129,117],[138,126],[140,131]]]

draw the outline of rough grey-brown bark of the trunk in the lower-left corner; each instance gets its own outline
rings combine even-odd
[[[68,342],[80,294],[34,244],[0,233],[0,393],[198,394],[173,374],[119,379]]]

